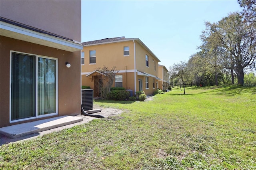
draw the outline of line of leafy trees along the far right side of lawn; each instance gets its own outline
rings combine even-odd
[[[256,0],[238,3],[242,12],[230,13],[216,23],[205,22],[200,51],[191,55],[188,62],[170,67],[171,83],[256,84]]]

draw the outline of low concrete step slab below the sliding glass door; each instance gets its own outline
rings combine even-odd
[[[52,128],[70,125],[80,121],[83,121],[83,118],[73,117],[73,116],[60,116],[60,117],[53,117],[53,118],[44,119],[40,121],[2,127],[0,128],[0,132],[5,136],[11,137],[11,138],[18,138],[21,136],[26,136],[28,134],[38,133],[38,132],[42,132]]]

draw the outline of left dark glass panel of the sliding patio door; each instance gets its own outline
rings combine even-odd
[[[35,117],[36,56],[12,53],[11,121]]]

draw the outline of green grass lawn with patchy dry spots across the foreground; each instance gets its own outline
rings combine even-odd
[[[96,101],[107,119],[0,146],[2,169],[256,169],[256,87],[174,88],[153,101]]]

